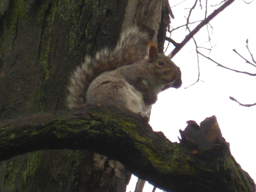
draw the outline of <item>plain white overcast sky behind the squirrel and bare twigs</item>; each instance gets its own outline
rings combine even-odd
[[[183,0],[171,0],[170,6]],[[249,0],[246,0],[247,2]],[[185,1],[172,8],[175,19],[172,27],[185,24],[184,15],[195,1]],[[204,4],[205,1],[202,1]],[[208,0],[208,5],[221,1]],[[190,4],[190,5],[189,5]],[[204,5],[203,5],[204,6]],[[199,6],[197,6],[199,8]],[[208,14],[217,7],[209,7]],[[210,54],[204,49],[199,51],[211,57],[222,65],[249,73],[256,73],[256,68],[248,65],[232,49],[236,49],[248,60],[250,55],[245,47],[249,39],[249,48],[256,59],[256,2],[245,4],[242,0],[234,1],[217,17],[211,20],[213,27],[211,45],[215,46]],[[201,13],[201,15],[200,15]],[[204,11],[194,12],[191,22],[203,19]],[[201,17],[200,17],[201,16]],[[195,18],[195,19],[194,19]],[[176,42],[181,42],[187,34],[184,28],[172,33]],[[206,27],[196,35],[198,45],[208,39]],[[208,47],[205,43],[203,46]],[[216,115],[223,137],[230,143],[231,153],[242,168],[256,180],[256,106],[246,108],[231,101],[229,96],[237,98],[241,103],[256,102],[256,77],[226,70],[208,59],[199,57],[200,80],[194,86],[184,89],[197,80],[198,63],[193,40],[173,58],[181,68],[183,85],[180,89],[169,89],[159,94],[158,101],[153,105],[150,124],[154,131],[161,131],[172,142],[178,141],[179,130],[184,130],[187,120],[195,120],[199,124],[206,117]],[[172,49],[169,50],[169,52]],[[137,178],[132,177],[127,191],[134,191]],[[144,192],[152,191],[153,186],[146,184]],[[157,189],[156,192],[162,191]]]

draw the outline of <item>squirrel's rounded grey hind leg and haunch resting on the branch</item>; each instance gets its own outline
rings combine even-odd
[[[148,117],[142,94],[124,79],[112,75],[97,77],[87,91],[86,100],[88,104],[114,105]]]

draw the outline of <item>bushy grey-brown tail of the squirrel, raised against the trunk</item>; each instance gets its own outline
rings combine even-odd
[[[86,56],[71,76],[68,85],[68,108],[86,103],[86,91],[90,83],[101,73],[144,59],[149,41],[147,33],[133,27],[121,33],[114,50],[105,48],[97,52],[94,58]]]

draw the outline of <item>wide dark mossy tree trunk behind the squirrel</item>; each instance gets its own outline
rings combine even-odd
[[[162,49],[165,0],[4,0],[0,7],[0,119],[65,109],[70,72],[121,29],[140,25]],[[86,151],[39,151],[0,162],[0,191],[125,191],[124,166]]]

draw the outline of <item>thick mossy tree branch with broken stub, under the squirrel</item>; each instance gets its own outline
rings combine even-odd
[[[138,115],[112,107],[35,114],[0,122],[0,159],[48,149],[90,150],[120,161],[166,191],[255,191],[215,117],[193,121],[172,143]]]

